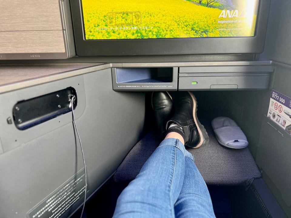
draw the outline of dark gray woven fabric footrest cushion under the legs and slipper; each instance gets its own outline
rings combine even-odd
[[[206,184],[249,186],[261,173],[249,149],[231,149],[216,140],[211,123],[201,122],[209,135],[209,144],[200,148],[187,148],[193,155]],[[154,132],[147,134],[126,155],[114,174],[115,182],[133,180],[143,164],[158,147],[160,140]]]

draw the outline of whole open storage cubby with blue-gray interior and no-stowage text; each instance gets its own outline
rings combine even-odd
[[[178,68],[112,68],[113,90],[177,90]]]

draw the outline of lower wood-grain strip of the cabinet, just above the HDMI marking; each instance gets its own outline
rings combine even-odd
[[[0,32],[0,54],[54,52],[65,52],[62,30]]]

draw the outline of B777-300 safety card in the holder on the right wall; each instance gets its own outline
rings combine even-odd
[[[268,117],[291,134],[291,98],[272,89]]]

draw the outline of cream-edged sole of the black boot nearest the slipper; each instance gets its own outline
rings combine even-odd
[[[196,104],[197,101],[196,101],[196,98],[191,92],[188,91],[188,93],[191,96],[192,101],[193,101],[193,118],[194,118],[195,124],[197,126],[199,137],[200,137],[199,143],[193,148],[198,148],[198,147],[201,147],[203,145],[208,144],[209,137],[208,137],[208,134],[206,132],[206,129],[204,128],[204,126],[200,123],[200,121],[197,118],[197,104]]]

